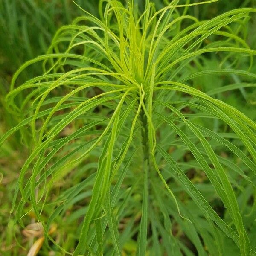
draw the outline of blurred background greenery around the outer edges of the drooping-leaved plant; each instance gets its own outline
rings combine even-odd
[[[195,0],[196,1],[196,0]],[[98,0],[76,0],[82,8],[98,16]],[[143,9],[143,1],[135,0]],[[185,2],[185,1],[184,1]],[[166,6],[169,0],[154,0],[157,9]],[[199,20],[210,19],[227,10],[239,7],[256,7],[256,0],[221,0],[204,6],[192,7],[189,14]],[[56,30],[80,15],[83,15],[71,0],[0,0],[0,136],[17,122],[6,112],[4,98],[15,70],[25,61],[44,54]],[[256,28],[255,15],[248,23],[248,31]],[[247,43],[256,49],[256,33],[248,33]],[[208,63],[214,65],[214,63]],[[36,67],[23,72],[22,79],[33,76]],[[253,67],[256,73],[256,65]],[[216,81],[218,83],[218,81]],[[256,95],[243,96],[238,90],[228,95],[226,102],[235,105],[255,119]],[[0,150],[0,255],[22,255],[12,235],[13,216],[9,217],[12,197],[20,168],[28,151],[24,150],[20,134],[12,136]],[[9,225],[8,225],[9,221]],[[16,230],[17,240],[24,244],[28,238]],[[24,252],[24,251],[22,251]]]

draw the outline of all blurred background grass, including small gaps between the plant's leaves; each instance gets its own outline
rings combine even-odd
[[[141,4],[142,1],[138,1]],[[157,8],[163,7],[165,5],[165,1],[154,1]],[[167,2],[167,1],[166,1]],[[91,13],[98,15],[97,10],[97,1],[77,1],[80,6],[84,9],[87,9]],[[200,9],[198,6],[189,9],[189,14],[198,17],[199,20],[209,19],[219,15],[225,11],[238,8],[238,7],[256,7],[256,1],[225,1],[222,0],[219,3],[212,3],[209,5],[201,6]],[[143,9],[143,6],[141,6]],[[9,84],[12,78],[13,73],[17,68],[27,61],[28,59],[34,58],[38,55],[43,54],[47,51],[49,44],[52,40],[52,37],[56,30],[64,25],[69,24],[71,21],[82,15],[82,12],[77,6],[75,6],[69,0],[52,0],[52,1],[36,1],[36,0],[24,0],[24,1],[17,1],[17,0],[3,0],[0,2],[0,136],[2,136],[9,128],[14,127],[17,125],[19,120],[15,120],[5,108],[4,97],[6,93],[9,91]],[[246,36],[246,41],[250,45],[251,49],[256,49],[256,33],[252,33],[253,28],[256,27],[256,18],[255,15],[247,24],[247,31],[248,34]],[[206,60],[203,63],[210,69],[211,67],[214,68],[218,64],[212,58]],[[33,66],[32,69],[26,70],[23,72],[20,80],[26,81],[27,79],[35,76],[37,74],[37,67],[36,65]],[[190,70],[191,71],[191,70]],[[256,65],[252,67],[252,73],[256,73]],[[238,79],[234,77],[233,79]],[[219,79],[216,79],[211,76],[210,77],[211,83],[209,83],[209,76],[198,78],[198,84],[207,84],[208,88],[204,88],[204,90],[210,90],[212,85],[216,87],[221,87],[224,83],[222,83]],[[207,83],[205,82],[207,81]],[[92,95],[95,92],[91,92]],[[255,90],[233,90],[230,93],[222,93],[219,94],[219,99],[223,100],[224,102],[233,105],[243,113],[245,113],[248,117],[253,120],[256,120],[256,111],[255,111],[255,103],[256,103],[256,91]],[[17,101],[22,99],[17,99]],[[104,116],[105,109],[99,109],[99,114]],[[198,119],[198,123],[201,124],[203,122],[201,119]],[[218,124],[215,124],[215,128],[217,129]],[[214,128],[214,127],[213,127]],[[72,127],[70,127],[72,129]],[[67,131],[67,134],[70,131]],[[19,225],[15,225],[14,227],[14,218],[15,215],[9,215],[9,212],[12,208],[12,199],[13,194],[16,186],[17,177],[19,176],[20,169],[25,162],[26,158],[28,157],[29,147],[27,148],[29,142],[26,141],[26,131],[23,131],[22,134],[15,133],[8,141],[6,141],[1,148],[0,151],[0,253],[2,255],[25,255],[26,251],[32,246],[33,244],[33,237],[35,237],[35,233],[26,234],[25,227],[21,227]],[[238,144],[239,146],[239,144]],[[170,148],[172,151],[172,148]],[[178,154],[178,152],[177,152]],[[222,151],[221,154],[223,156],[229,154],[228,152]],[[91,163],[95,163],[98,159],[98,155],[91,156]],[[186,154],[183,156],[184,159],[189,162],[189,158],[192,156]],[[178,156],[177,156],[178,159]],[[186,162],[184,161],[184,162]],[[86,168],[86,167],[85,167]],[[89,167],[88,167],[89,168]],[[188,176],[192,180],[192,182],[198,182],[201,185],[202,189],[204,189],[204,184],[207,184],[207,179],[204,177],[202,172],[195,172],[194,169],[189,169]],[[60,179],[58,183],[54,186],[54,193],[57,195],[59,188],[68,189],[76,184],[76,181],[79,180],[78,175],[71,174],[69,179]],[[234,184],[238,187],[241,185],[239,183],[239,177],[234,175],[232,177]],[[90,184],[89,184],[90,186]],[[241,186],[244,186],[242,184]],[[205,186],[205,196],[209,198],[209,201],[212,201],[212,207],[215,211],[224,218],[225,209],[220,200],[218,198],[211,198],[211,190]],[[157,188],[156,188],[157,190]],[[248,190],[250,190],[248,188]],[[246,197],[247,188],[244,188],[244,194],[240,194],[239,201],[243,200],[243,195]],[[175,191],[179,192],[179,191]],[[250,194],[250,191],[248,192]],[[157,193],[156,193],[157,195]],[[86,195],[83,195],[86,197]],[[90,196],[90,195],[87,195]],[[139,197],[139,195],[138,195]],[[137,198],[138,204],[141,198]],[[74,200],[79,200],[78,198]],[[161,200],[161,198],[159,198]],[[181,201],[186,201],[186,198],[180,198]],[[253,198],[250,198],[253,201]],[[84,205],[87,204],[87,201],[80,201],[75,207],[76,210],[79,212],[79,209],[83,209]],[[132,209],[128,209],[132,211]],[[164,202],[162,204],[162,210],[164,211]],[[26,206],[23,209],[23,214],[29,211],[29,207]],[[49,212],[52,211],[51,206],[49,205]],[[68,209],[67,213],[68,215]],[[195,213],[197,214],[197,213]],[[22,215],[22,214],[21,214]],[[76,218],[74,216],[73,218]],[[140,218],[139,216],[134,217],[133,220],[130,220],[134,223],[138,221]],[[154,216],[150,216],[150,218],[154,218]],[[9,221],[9,225],[8,225]],[[61,220],[59,219],[60,223]],[[33,224],[35,222],[35,215],[30,212],[26,217],[26,225]],[[178,222],[178,221],[177,221]],[[157,222],[156,222],[157,223]],[[251,225],[251,220],[248,220],[248,225]],[[204,223],[202,222],[202,227]],[[166,224],[168,225],[168,224]],[[157,226],[157,224],[156,224]],[[251,233],[250,236],[256,237],[256,226],[250,227]],[[74,247],[73,241],[73,234],[76,233],[76,227],[68,227],[68,230],[65,230],[67,226],[65,223],[61,223],[57,230],[55,230],[55,236],[58,236],[60,239],[63,239],[62,234],[68,233],[66,235],[65,241],[59,241],[66,250]],[[154,228],[151,227],[151,232],[154,234]],[[15,237],[12,235],[12,230],[15,229]],[[189,238],[186,237],[185,234],[182,233],[180,229],[177,227],[172,227],[172,233],[174,236],[179,236],[181,240],[183,240],[184,244],[187,245],[191,251],[196,253],[196,248],[194,245],[189,241]],[[164,241],[166,242],[166,241]],[[168,242],[168,241],[167,241]],[[226,241],[224,244],[225,251],[227,255],[239,255],[239,251],[237,251],[233,246],[229,246],[229,240]],[[21,248],[19,245],[21,244],[24,248]],[[156,246],[157,247],[157,246]],[[130,244],[125,244],[125,253],[127,255],[133,255],[135,251],[135,245],[133,243],[133,239],[131,239]],[[42,250],[40,251],[40,255],[49,255],[49,251],[47,246],[43,246]],[[52,254],[52,255],[58,255]]]

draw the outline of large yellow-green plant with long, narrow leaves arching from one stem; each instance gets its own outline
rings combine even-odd
[[[19,130],[31,151],[12,212],[41,222],[45,254],[256,255],[256,125],[225,103],[254,103],[256,9],[187,15],[217,1],[102,0],[100,19],[84,11],[17,70],[6,107],[20,124],[0,144]]]

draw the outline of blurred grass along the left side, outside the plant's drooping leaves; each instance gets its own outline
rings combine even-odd
[[[77,3],[92,13],[97,12],[96,0],[93,3],[78,0]],[[28,59],[45,53],[56,30],[81,14],[82,11],[70,0],[0,1],[0,137],[18,123],[4,107],[13,73]],[[17,82],[28,80],[38,70],[41,66],[33,65],[22,73]],[[9,220],[9,212],[15,183],[27,155],[18,133],[0,149],[0,180],[3,176],[0,182],[1,256],[20,255],[20,248],[10,233],[13,216]],[[24,241],[23,234],[19,233],[17,239]]]

